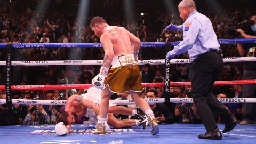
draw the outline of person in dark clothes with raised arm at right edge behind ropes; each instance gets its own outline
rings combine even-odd
[[[250,18],[254,20],[254,25],[251,26],[253,35],[246,34],[242,29],[236,31],[241,34],[243,38],[256,38],[256,15]],[[237,50],[242,57],[255,57],[255,44],[237,44]],[[245,68],[242,79],[256,79],[256,62],[245,62]],[[256,84],[244,84],[242,98],[256,98]],[[242,103],[243,121],[240,125],[252,124],[253,116],[256,115],[255,103]]]

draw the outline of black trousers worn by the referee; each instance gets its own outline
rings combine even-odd
[[[201,54],[192,62],[191,95],[207,131],[218,127],[212,113],[221,116],[224,120],[231,115],[215,95],[210,93],[213,83],[219,77],[222,63],[223,61],[218,51],[209,51]]]

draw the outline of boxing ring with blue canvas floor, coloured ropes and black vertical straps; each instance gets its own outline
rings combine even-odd
[[[256,39],[219,39],[220,44],[237,43],[256,43]],[[141,47],[165,47],[169,51],[171,46],[179,42],[152,42],[141,43]],[[12,61],[12,49],[29,48],[86,48],[102,47],[100,43],[67,43],[67,44],[0,44],[0,48],[6,48],[6,61],[0,61],[0,65],[6,66],[6,85],[1,85],[0,90],[6,91],[6,100],[0,100],[2,104],[43,104],[43,105],[65,105],[66,101],[54,100],[21,100],[12,99],[13,90],[63,90],[63,89],[85,89],[91,84],[71,84],[71,85],[12,85],[12,67],[13,66],[47,66],[47,65],[102,65],[102,60],[64,60],[64,61]],[[243,58],[223,58],[223,62],[243,62],[256,61],[255,57]],[[169,93],[170,86],[191,85],[191,82],[169,82],[170,64],[191,63],[190,59],[173,60],[139,60],[139,65],[165,65],[164,83],[143,83],[142,86],[164,86],[164,92]],[[256,84],[256,79],[239,81],[217,81],[214,85],[230,84]],[[256,99],[219,99],[223,103],[255,103]],[[149,103],[193,103],[190,98],[171,98],[171,99],[146,99]],[[133,104],[132,100],[113,100],[110,101],[118,105]],[[218,124],[219,129],[223,130],[223,124]],[[74,124],[71,132],[65,136],[55,134],[55,125],[14,125],[0,126],[1,143],[255,143],[256,125],[237,125],[233,131],[222,133],[222,140],[212,141],[197,139],[197,135],[205,133],[203,124],[163,124],[160,125],[160,133],[153,136],[150,133],[150,127],[145,130],[142,126],[133,126],[126,129],[110,129],[106,135],[92,134],[95,125],[85,126]]]

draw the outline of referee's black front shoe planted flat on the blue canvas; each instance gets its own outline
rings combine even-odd
[[[207,131],[205,134],[199,134],[198,139],[210,139],[210,140],[221,140],[222,135],[220,130],[217,128]]]

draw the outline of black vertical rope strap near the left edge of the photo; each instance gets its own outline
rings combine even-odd
[[[12,85],[12,43],[7,43],[6,47],[6,83],[5,83],[5,91],[6,91],[6,103],[8,105],[12,104],[12,90],[11,90],[11,85]]]

